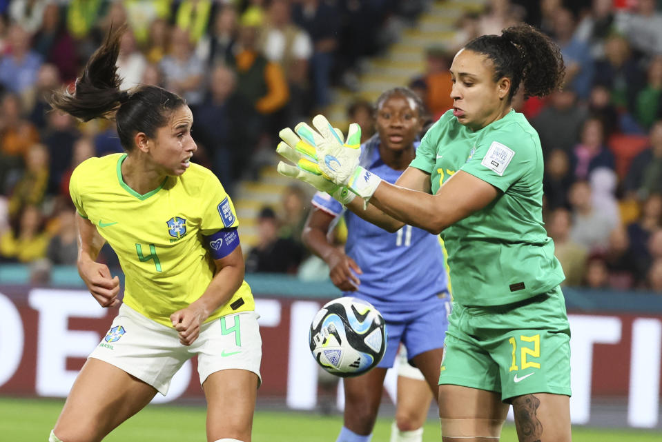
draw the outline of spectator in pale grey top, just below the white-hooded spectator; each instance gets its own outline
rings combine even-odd
[[[612,219],[603,217],[600,208],[595,207],[588,181],[576,181],[572,185],[569,201],[572,205],[570,239],[590,253],[603,252],[616,225]]]

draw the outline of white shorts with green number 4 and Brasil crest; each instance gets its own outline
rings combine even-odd
[[[219,370],[238,368],[257,374],[262,338],[257,312],[231,313],[204,323],[193,344],[179,343],[174,328],[144,317],[126,304],[119,308],[106,337],[90,354],[152,385],[164,396],[184,362],[197,354],[200,384]]]

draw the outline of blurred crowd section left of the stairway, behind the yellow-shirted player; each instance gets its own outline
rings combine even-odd
[[[405,4],[406,3],[406,4]],[[163,86],[193,110],[194,161],[232,194],[280,128],[356,88],[360,60],[383,50],[425,1],[0,1],[0,262],[75,263],[72,170],[121,152],[113,121],[49,112],[74,88],[108,30],[126,23],[122,88]],[[101,261],[117,265],[109,248]],[[37,272],[39,274],[39,272]]]

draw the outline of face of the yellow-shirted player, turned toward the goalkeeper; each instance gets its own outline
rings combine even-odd
[[[159,128],[156,137],[148,139],[148,154],[160,174],[179,176],[186,172],[197,145],[191,137],[193,114],[188,106],[179,106]]]

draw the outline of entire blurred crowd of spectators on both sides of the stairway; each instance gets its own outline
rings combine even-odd
[[[84,159],[121,146],[112,121],[77,123],[48,112],[46,96],[72,87],[111,26],[128,23],[118,62],[124,87],[182,94],[195,119],[195,161],[232,191],[255,174],[256,152],[272,150],[280,128],[324,109],[332,87],[360,93],[362,60],[427,3],[0,1],[0,262],[75,263],[68,177]],[[447,45],[425,52],[425,72],[409,83],[430,121],[452,106],[455,52],[521,21],[549,34],[566,64],[563,90],[514,102],[541,137],[545,223],[566,284],[662,292],[662,1],[487,1],[460,17]],[[352,103],[348,120],[365,139],[373,134],[371,103]],[[300,242],[309,196],[292,185],[278,207],[261,210],[248,271],[328,273]],[[342,224],[337,237],[342,243]]]

